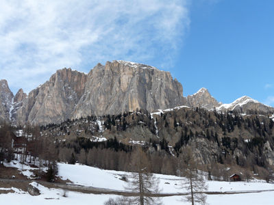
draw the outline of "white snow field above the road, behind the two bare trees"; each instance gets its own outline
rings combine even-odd
[[[128,172],[117,172],[113,170],[104,170],[86,165],[68,165],[58,163],[59,175],[62,179],[69,179],[73,184],[79,184],[89,187],[99,187],[105,189],[114,189],[123,191],[127,183],[121,180],[122,176],[129,177]],[[155,174],[159,179],[159,187],[162,193],[184,193],[187,190],[180,189],[183,177]],[[251,182],[219,182],[207,181],[208,191],[257,191],[257,190],[274,190],[274,184],[265,183],[260,180]],[[274,193],[273,193],[274,194]],[[273,203],[274,204],[274,203]]]

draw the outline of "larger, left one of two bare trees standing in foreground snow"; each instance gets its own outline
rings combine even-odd
[[[159,193],[159,183],[153,174],[149,173],[149,160],[141,147],[132,154],[131,166],[134,173],[128,181],[127,189],[138,193],[137,197],[132,197],[131,204],[162,204],[158,197],[151,197],[152,193]]]

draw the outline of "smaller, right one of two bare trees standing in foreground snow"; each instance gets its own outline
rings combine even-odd
[[[189,147],[184,148],[183,153],[180,154],[179,174],[186,177],[186,180],[182,181],[181,188],[190,191],[184,200],[191,202],[192,205],[206,204],[206,195],[203,191],[208,187],[204,177],[197,170],[197,162]]]

